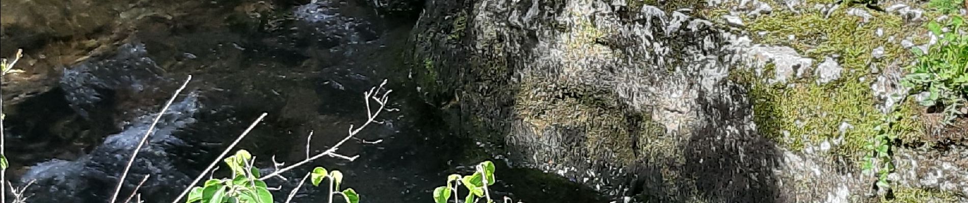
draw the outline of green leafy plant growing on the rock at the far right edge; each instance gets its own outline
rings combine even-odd
[[[963,23],[960,16],[953,16],[944,26],[929,22],[926,27],[940,37],[938,44],[931,46],[926,54],[914,48],[918,63],[908,67],[910,73],[901,81],[912,92],[928,92],[921,102],[923,106],[942,104],[946,124],[951,124],[959,114],[968,114],[961,111],[968,95],[968,36],[958,34],[958,31],[965,32]],[[951,29],[950,32],[944,33],[943,27]]]

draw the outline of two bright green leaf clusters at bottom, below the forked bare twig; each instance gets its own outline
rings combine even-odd
[[[253,167],[253,157],[246,150],[239,150],[225,160],[226,165],[232,171],[232,179],[210,179],[205,181],[201,187],[193,188],[186,203],[273,203],[272,193],[269,192],[265,182],[259,180],[259,172]],[[342,192],[334,192],[340,189],[343,181],[343,173],[333,170],[327,173],[326,168],[316,167],[310,173],[312,175],[313,186],[318,187],[322,179],[329,178],[329,198],[334,194],[340,194],[348,203],[359,203],[359,194],[355,190],[347,189]]]

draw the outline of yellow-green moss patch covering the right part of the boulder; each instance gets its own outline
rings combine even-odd
[[[839,56],[836,61],[844,68],[842,76],[828,84],[817,84],[814,77],[806,77],[790,85],[770,85],[748,71],[735,72],[734,79],[741,79],[750,89],[755,122],[765,137],[802,150],[843,136],[843,144],[833,149],[835,153],[856,157],[862,152],[862,145],[882,115],[870,89],[870,81],[876,75],[869,66],[883,68],[895,60],[909,62],[909,54],[888,38],[904,38],[903,34],[916,28],[907,28],[898,16],[891,14],[872,12],[874,17],[862,22],[861,17],[845,11],[839,9],[830,17],[816,11],[779,11],[748,24],[750,33],[766,33],[754,36],[760,43],[790,46],[813,59]],[[876,35],[878,29],[883,36]],[[884,47],[885,56],[874,59],[871,52],[879,46]],[[898,128],[915,133],[922,127],[907,120]],[[911,137],[914,136],[902,138]]]

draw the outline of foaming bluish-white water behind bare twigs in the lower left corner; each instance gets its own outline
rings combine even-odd
[[[197,111],[195,96],[171,105],[141,148],[124,182],[123,193],[130,192],[149,174],[151,178],[139,190],[149,199],[172,198],[181,191],[180,187],[173,186],[185,186],[191,181],[186,174],[191,170],[179,167],[178,163],[192,158],[173,151],[185,146],[186,142],[173,134],[194,124],[196,119],[192,116]],[[27,193],[43,194],[32,196],[31,202],[99,202],[109,199],[131,153],[153,120],[153,114],[140,117],[123,132],[108,136],[103,144],[76,161],[54,160],[34,165],[20,178],[20,183],[34,182],[33,187],[27,188]]]

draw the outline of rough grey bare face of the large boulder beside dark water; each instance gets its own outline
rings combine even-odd
[[[828,155],[839,146],[791,150],[761,135],[748,89],[729,78],[748,66],[756,75],[772,71],[771,84],[830,83],[841,80],[841,64],[827,58],[814,70],[816,59],[793,48],[751,43],[681,8],[430,2],[413,31],[408,75],[427,100],[450,108],[458,131],[496,143],[492,153],[617,199],[869,200],[872,177]]]

